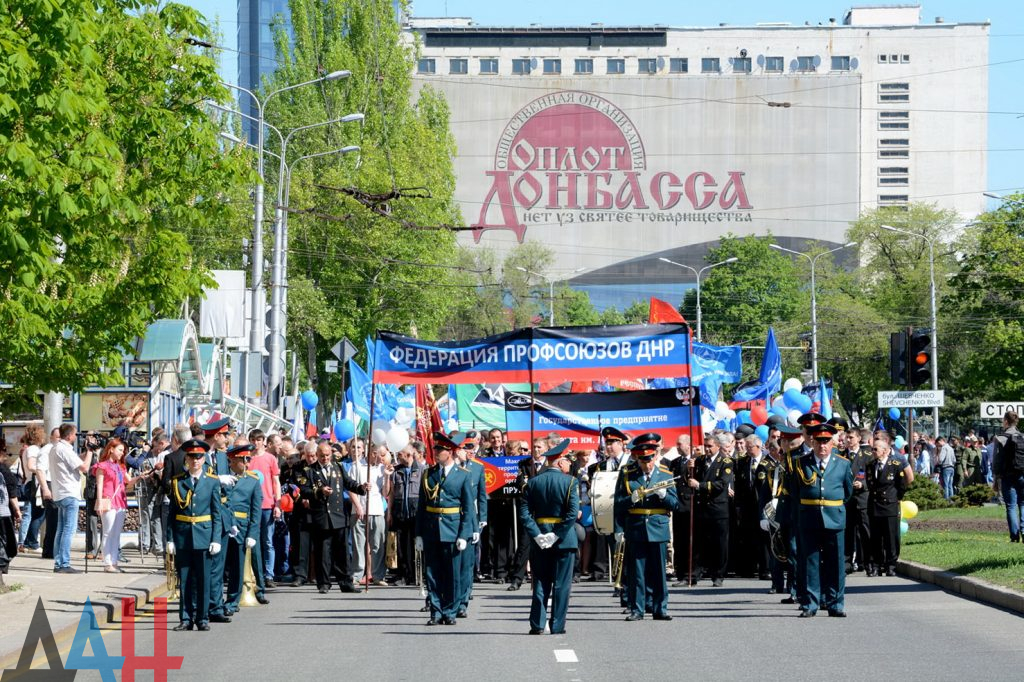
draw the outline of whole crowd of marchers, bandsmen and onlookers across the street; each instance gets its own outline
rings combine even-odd
[[[33,426],[0,468],[2,566],[41,551],[54,571],[76,572],[71,539],[84,496],[87,553],[123,570],[132,491],[141,551],[173,561],[184,630],[230,621],[247,556],[261,603],[285,585],[420,585],[428,625],[465,617],[476,583],[516,591],[528,579],[532,634],[564,631],[581,581],[612,584],[628,621],[671,620],[670,582],[721,587],[730,576],[765,581],[803,617],[842,617],[847,574],[895,573],[900,500],[915,475],[935,476],[947,498],[991,483],[1020,541],[1016,426],[1011,412],[990,443],[969,433],[904,444],[809,413],[797,426],[770,420],[764,441],[749,426],[698,444],[683,434],[671,446],[657,433],[608,427],[596,451],[554,433],[509,441],[493,429],[435,433],[430,466],[419,440],[397,453],[359,438],[294,442],[233,433],[226,418],[157,429],[131,450],[124,433],[79,439],[63,425],[43,442]],[[479,457],[521,457],[514,483],[488,495]],[[604,508],[601,480],[612,494]]]

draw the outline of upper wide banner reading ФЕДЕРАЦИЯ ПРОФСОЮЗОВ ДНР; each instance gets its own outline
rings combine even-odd
[[[689,377],[689,328],[532,328],[469,341],[381,332],[373,380],[390,384],[540,383]]]

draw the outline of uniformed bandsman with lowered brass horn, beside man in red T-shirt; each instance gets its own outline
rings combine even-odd
[[[227,532],[227,597],[224,612],[231,615],[239,610],[239,600],[242,597],[242,581],[245,576],[246,550],[251,550],[259,541],[260,507],[263,504],[263,491],[260,487],[259,475],[247,471],[253,446],[249,442],[238,442],[227,449],[227,459],[231,462],[231,473],[238,477],[227,492],[225,522],[230,522]],[[229,516],[229,518],[228,518]],[[264,595],[263,571],[257,559],[259,552],[253,552],[253,579],[256,581],[256,600],[261,604],[269,604]]]

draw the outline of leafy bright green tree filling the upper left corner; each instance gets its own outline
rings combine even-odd
[[[249,175],[204,112],[208,30],[155,0],[8,0],[0,46],[3,400],[117,380],[122,352],[208,282],[185,235]]]

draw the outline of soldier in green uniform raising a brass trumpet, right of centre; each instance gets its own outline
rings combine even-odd
[[[665,561],[671,539],[669,513],[679,506],[679,496],[672,472],[655,462],[660,449],[662,436],[657,433],[634,438],[630,451],[636,465],[622,469],[615,484],[615,537],[629,548],[627,621],[643,620],[648,592],[654,620],[672,620]]]

